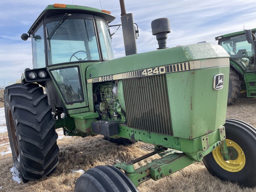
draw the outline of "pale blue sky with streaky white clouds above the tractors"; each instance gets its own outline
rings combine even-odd
[[[48,4],[75,4],[105,9],[116,16],[111,24],[120,24],[119,0],[8,0],[0,1],[0,87],[20,79],[25,68],[32,68],[31,40],[20,39]],[[171,33],[168,47],[200,41],[217,43],[214,37],[244,28],[256,28],[255,0],[125,0],[126,12],[133,13],[139,25],[138,52],[155,50],[151,21],[168,17]],[[116,28],[111,28],[112,32]],[[122,31],[112,39],[115,56],[124,56]]]

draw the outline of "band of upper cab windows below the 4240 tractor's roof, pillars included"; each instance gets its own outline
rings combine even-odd
[[[58,19],[49,19],[37,29],[32,35],[33,68],[46,67],[46,63],[53,65],[114,58],[108,23],[81,17],[83,15],[58,16]]]

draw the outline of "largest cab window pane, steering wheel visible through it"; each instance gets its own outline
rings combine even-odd
[[[72,61],[100,60],[93,20],[70,19],[46,24],[48,65]]]

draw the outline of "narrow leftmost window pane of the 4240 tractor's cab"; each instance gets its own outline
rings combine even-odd
[[[32,35],[33,68],[45,67],[43,25]]]

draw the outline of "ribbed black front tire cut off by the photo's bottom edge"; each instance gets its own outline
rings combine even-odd
[[[120,169],[100,165],[90,168],[76,181],[75,192],[139,192]]]

